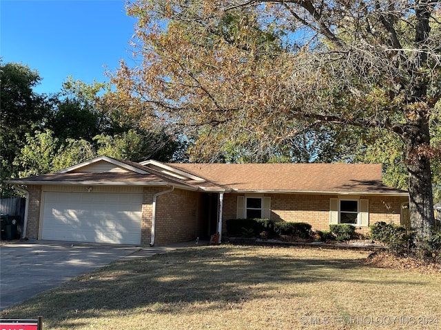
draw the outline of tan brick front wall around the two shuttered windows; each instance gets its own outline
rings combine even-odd
[[[226,233],[227,219],[236,219],[238,194],[226,194],[223,209],[223,232]],[[262,195],[260,195],[262,196]],[[329,199],[337,195],[265,194],[271,197],[271,220],[306,222],[313,230],[329,230]],[[351,198],[350,195],[345,198]],[[358,198],[358,197],[356,197]],[[384,221],[400,224],[401,206],[407,197],[363,196],[369,199],[369,225]],[[357,232],[367,234],[369,227],[357,227]]]

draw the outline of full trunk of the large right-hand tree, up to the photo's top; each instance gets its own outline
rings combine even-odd
[[[410,91],[413,99],[411,109],[405,111],[409,120],[404,129],[404,142],[407,146],[407,170],[409,172],[409,210],[411,228],[415,230],[414,243],[423,250],[424,239],[431,237],[435,225],[433,212],[432,173],[430,166],[430,111],[427,104],[427,81],[424,79],[424,69],[427,69],[427,40],[431,30],[429,19],[434,3],[430,0],[415,1],[416,52],[414,62],[410,62],[411,73]],[[424,105],[425,104],[425,105]]]

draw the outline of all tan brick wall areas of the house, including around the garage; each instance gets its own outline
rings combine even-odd
[[[169,188],[143,188],[141,221],[141,244],[143,245],[150,244],[153,197],[156,193]],[[28,192],[29,209],[26,236],[29,239],[39,239],[42,187],[28,186]],[[208,209],[203,205],[207,203],[207,199],[204,199],[203,196],[204,194],[201,192],[178,188],[173,192],[159,196],[156,203],[155,243],[161,245],[191,241],[197,236],[206,236],[209,230],[216,230],[216,228],[209,229]],[[224,195],[223,234],[227,230],[225,221],[236,219],[237,196],[238,194],[228,193]],[[260,194],[259,196],[263,197],[264,195]],[[206,194],[205,197],[207,197]],[[272,220],[307,222],[312,225],[313,230],[329,230],[329,199],[338,196],[265,194],[265,197],[271,197]],[[350,198],[350,196],[345,197]],[[362,198],[369,199],[369,225],[378,221],[400,223],[402,203],[408,201],[407,197],[369,196]],[[217,199],[213,201],[217,201]],[[215,222],[216,219],[214,219],[213,225]],[[369,227],[358,227],[357,232],[366,234],[369,232]]]

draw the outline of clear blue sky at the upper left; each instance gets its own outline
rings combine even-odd
[[[61,90],[66,77],[107,81],[120,58],[131,61],[136,20],[123,0],[0,0],[0,56],[36,69],[37,93]]]

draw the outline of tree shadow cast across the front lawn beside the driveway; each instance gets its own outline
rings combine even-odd
[[[139,261],[117,262],[85,274],[61,287],[10,309],[2,317],[43,315],[50,325],[66,320],[97,318],[112,313],[178,314],[183,305],[214,309],[225,304],[274,296],[274,290],[299,283],[342,281],[353,284],[399,284],[360,274],[357,259],[297,257],[295,249],[282,255],[258,248],[198,247],[158,254]],[[261,252],[256,254],[256,251]],[[312,254],[312,253],[311,253]],[[418,284],[418,283],[406,283]],[[201,312],[201,309],[198,309]]]

